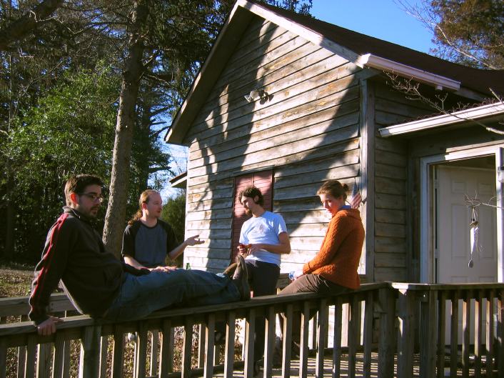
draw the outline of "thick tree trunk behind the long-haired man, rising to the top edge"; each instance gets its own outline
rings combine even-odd
[[[109,207],[104,226],[104,243],[109,252],[121,255],[121,240],[126,220],[126,200],[128,198],[131,143],[136,121],[136,100],[138,86],[143,72],[142,26],[146,23],[148,7],[146,1],[135,1],[130,16],[128,56],[122,74],[121,96],[116,123],[116,139],[112,157]]]

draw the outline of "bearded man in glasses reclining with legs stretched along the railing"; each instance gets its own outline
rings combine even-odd
[[[61,322],[46,314],[51,292],[60,280],[79,312],[114,321],[140,319],[172,304],[199,306],[250,299],[243,257],[230,279],[198,270],[136,269],[106,252],[91,225],[104,198],[102,186],[99,177],[88,174],[66,181],[67,206],[49,230],[31,289],[29,317],[39,334],[56,332]]]

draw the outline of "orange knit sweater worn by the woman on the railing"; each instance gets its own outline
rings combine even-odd
[[[357,274],[364,243],[364,227],[357,209],[341,209],[331,222],[321,249],[303,266],[303,274],[320,274],[349,289],[361,285]]]

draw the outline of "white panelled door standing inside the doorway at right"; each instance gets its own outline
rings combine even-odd
[[[497,227],[496,211],[493,207],[477,207],[477,220],[480,227],[480,253],[473,254],[473,267],[470,260],[471,211],[465,203],[465,195],[478,197],[483,202],[495,196],[495,171],[492,169],[461,168],[438,166],[437,214],[437,282],[450,284],[457,282],[478,283],[497,282]],[[495,204],[495,202],[493,202]],[[483,317],[485,317],[484,302]],[[458,344],[462,342],[462,301],[458,304]],[[446,344],[450,343],[450,312],[447,305],[445,319]],[[474,319],[474,303],[471,304],[471,319]],[[485,322],[483,322],[484,324]],[[483,325],[482,332],[485,332]],[[484,334],[484,333],[483,333]],[[474,324],[470,324],[470,337],[473,339]]]

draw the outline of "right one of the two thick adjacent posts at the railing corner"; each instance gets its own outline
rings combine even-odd
[[[397,377],[410,378],[413,376],[413,343],[415,341],[414,331],[414,309],[415,292],[408,289],[398,290],[398,315],[399,315],[399,335],[398,335],[398,356],[397,356]]]

